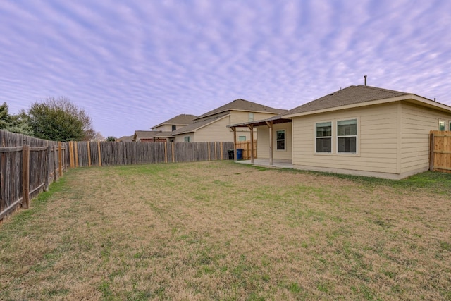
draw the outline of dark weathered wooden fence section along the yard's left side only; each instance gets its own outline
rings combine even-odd
[[[47,190],[66,169],[65,144],[0,130],[0,221]]]

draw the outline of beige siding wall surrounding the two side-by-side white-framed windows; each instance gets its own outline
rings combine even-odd
[[[365,174],[397,174],[398,105],[381,104],[292,119],[295,168]],[[357,154],[338,154],[336,122],[357,118]],[[315,123],[332,122],[332,154],[315,152]],[[366,174],[365,174],[366,175]],[[397,176],[393,176],[396,178]]]

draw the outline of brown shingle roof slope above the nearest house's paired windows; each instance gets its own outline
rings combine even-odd
[[[315,99],[311,102],[307,102],[307,104],[302,104],[302,106],[297,106],[295,109],[286,111],[281,115],[288,116],[292,114],[330,109],[337,106],[359,104],[362,102],[371,102],[373,100],[387,99],[409,94],[412,93],[405,93],[364,85],[350,86],[346,87],[345,89],[327,94],[326,96],[320,97],[319,99]]]

